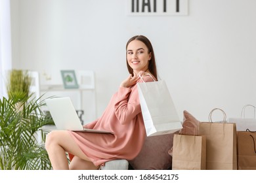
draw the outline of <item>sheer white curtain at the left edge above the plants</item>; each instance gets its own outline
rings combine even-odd
[[[0,1],[0,98],[7,97],[6,72],[12,67],[10,0]]]

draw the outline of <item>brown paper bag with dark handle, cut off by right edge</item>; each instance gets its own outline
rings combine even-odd
[[[237,131],[238,169],[256,170],[256,132]]]

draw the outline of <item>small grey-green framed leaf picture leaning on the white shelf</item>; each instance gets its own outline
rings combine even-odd
[[[60,71],[65,89],[79,88],[74,70]]]

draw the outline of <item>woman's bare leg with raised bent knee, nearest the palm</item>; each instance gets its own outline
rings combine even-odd
[[[85,161],[90,159],[85,156],[68,131],[56,130],[47,135],[45,148],[49,155],[53,169],[68,170],[66,152],[70,152]]]

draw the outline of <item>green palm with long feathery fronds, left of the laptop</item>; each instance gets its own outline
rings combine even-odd
[[[53,125],[53,119],[42,110],[44,100],[30,97],[0,100],[0,169],[51,169],[44,144],[48,132],[42,127]]]

